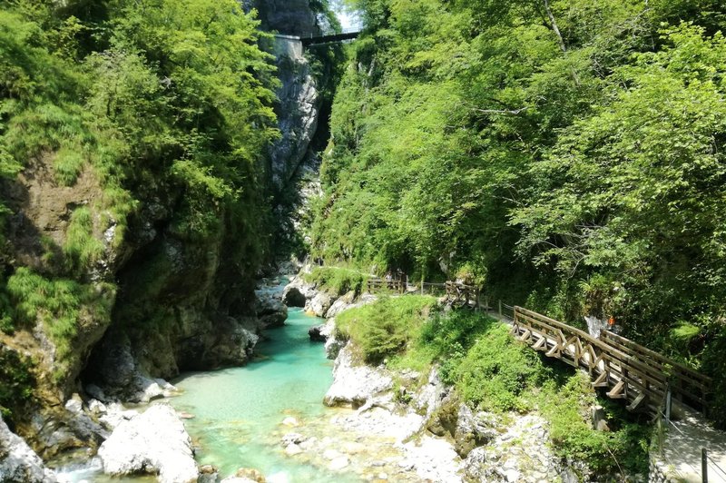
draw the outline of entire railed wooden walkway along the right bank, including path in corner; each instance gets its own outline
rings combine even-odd
[[[481,296],[478,288],[455,281],[411,284],[403,277],[371,279],[367,288],[369,292],[443,295],[451,305],[489,311],[488,299]],[[647,412],[662,420],[667,428],[661,451],[652,458],[652,468],[658,468],[665,479],[726,482],[726,433],[712,429],[693,410],[707,414],[711,378],[610,330],[601,330],[599,337],[594,337],[501,301],[498,315],[511,325],[516,339],[546,357],[587,371],[593,387],[603,389],[608,398],[622,399],[627,409]],[[676,413],[679,418],[672,418]]]

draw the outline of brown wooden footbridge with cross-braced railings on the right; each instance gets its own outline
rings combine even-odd
[[[705,412],[711,379],[632,340],[603,330],[594,338],[542,314],[515,307],[512,333],[535,350],[590,373],[595,388],[625,399],[628,409],[657,413],[668,391]]]

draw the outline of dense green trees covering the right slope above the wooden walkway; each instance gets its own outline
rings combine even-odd
[[[351,4],[314,256],[614,317],[722,398],[724,6]]]

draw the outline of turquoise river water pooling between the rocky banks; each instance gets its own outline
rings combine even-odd
[[[184,424],[198,447],[197,460],[220,469],[222,477],[239,468],[259,469],[268,481],[348,480],[284,454],[282,435],[295,432],[283,419],[324,417],[323,396],[332,382],[331,362],[308,329],[321,320],[290,310],[284,328],[260,341],[260,359],[248,366],[191,373],[174,380],[181,396],[172,406],[194,415]],[[353,480],[359,480],[350,475]]]

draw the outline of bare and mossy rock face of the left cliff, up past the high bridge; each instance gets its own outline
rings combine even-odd
[[[266,29],[316,28],[307,1],[258,4]],[[12,383],[9,397],[0,390],[0,409],[13,411],[18,432],[44,456],[98,439],[64,410],[74,392],[139,399],[153,378],[244,364],[264,324],[278,323],[268,312],[258,319],[254,293],[275,243],[264,204],[268,187],[283,191],[307,153],[319,95],[297,45],[280,42],[275,53],[281,137],[266,166],[239,168],[250,189],[234,202],[192,199],[193,184],[162,165],[124,187],[122,221],[102,173],[85,163],[74,182],[62,182],[50,150],[0,182],[11,212],[0,261],[13,271],[7,290],[23,318],[12,330],[0,326],[0,382]],[[204,181],[211,172],[200,173]],[[205,203],[201,215],[194,202]],[[5,303],[0,297],[0,309]]]

